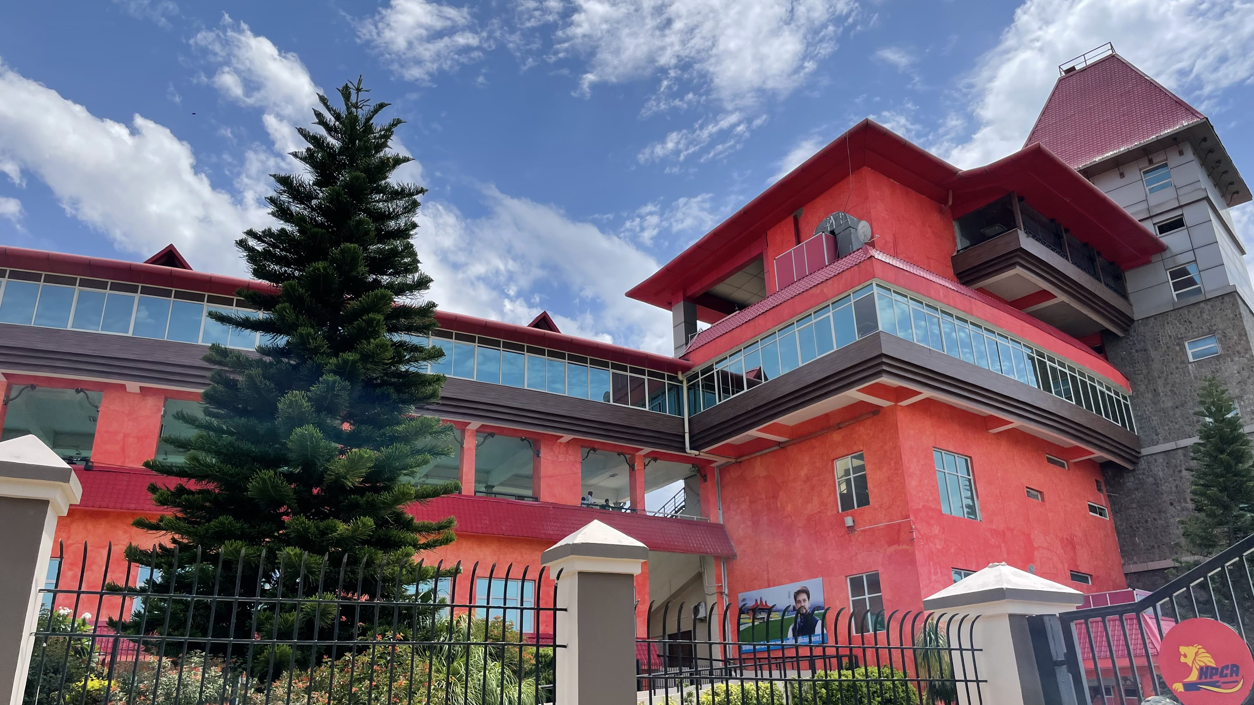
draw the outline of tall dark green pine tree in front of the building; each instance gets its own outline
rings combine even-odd
[[[359,590],[357,571],[369,566],[364,575],[375,587],[360,590],[395,596],[435,577],[419,571],[415,554],[454,539],[451,517],[419,522],[405,511],[459,487],[415,480],[453,442],[439,419],[414,415],[438,400],[444,381],[421,371],[443,351],[416,342],[435,327],[435,305],[423,301],[431,278],[410,242],[426,189],[391,181],[411,159],[390,151],[403,120],[376,123],[387,103],[370,104],[366,93],[359,79],[340,88],[342,108],[319,95],[321,132],[298,129],[307,147],[292,153],[305,173],[273,174],[267,202],[278,227],[250,230],[236,242],[253,278],[272,289],[238,292],[257,315],[209,316],[260,331],[263,344],[258,355],[211,346],[204,415],[178,416],[196,434],[166,439],[187,452],[186,462],[145,464],[182,480],[150,485],[168,513],[134,522],[164,534],[163,544],[127,549],[129,559],[158,570],[153,593],[169,591],[171,581],[184,592],[193,582],[203,590],[240,576],[247,593],[267,595],[292,583],[303,559],[310,576],[330,571],[324,592]],[[376,568],[385,571],[377,581]],[[187,606],[173,602],[145,598],[119,626],[135,633],[167,618],[183,623]],[[262,613],[258,631],[308,626],[296,620]],[[248,615],[227,625],[197,607],[191,622],[202,635],[252,637]]]

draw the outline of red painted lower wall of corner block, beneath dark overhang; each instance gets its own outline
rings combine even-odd
[[[840,409],[805,430],[870,409]],[[971,457],[982,521],[940,512],[934,447]],[[833,463],[858,452],[870,506],[841,513]],[[732,603],[741,591],[821,577],[828,605],[848,607],[846,578],[879,571],[885,606],[917,610],[952,583],[951,568],[996,561],[1031,565],[1083,592],[1125,587],[1114,526],[1087,509],[1086,499],[1106,504],[1093,482],[1100,470],[1092,462],[1050,465],[1047,452],[1060,448],[1016,430],[991,434],[981,416],[924,400],[725,467],[724,519],[737,553],[727,562]],[[1042,489],[1045,503],[1028,499],[1025,485]],[[845,514],[855,521],[851,534]],[[1071,570],[1090,573],[1092,585],[1071,582]]]

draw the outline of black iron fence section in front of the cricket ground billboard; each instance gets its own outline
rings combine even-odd
[[[983,704],[978,617],[714,603],[648,610],[636,671],[650,704]]]

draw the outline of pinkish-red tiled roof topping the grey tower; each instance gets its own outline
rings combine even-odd
[[[1204,119],[1111,54],[1058,78],[1025,147],[1040,142],[1071,168],[1080,168]]]

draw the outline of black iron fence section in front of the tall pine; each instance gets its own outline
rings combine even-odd
[[[61,547],[24,705],[553,701],[544,568],[191,553]]]

